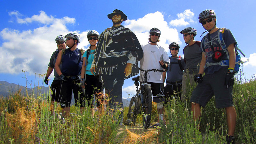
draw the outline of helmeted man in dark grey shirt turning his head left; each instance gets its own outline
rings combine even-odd
[[[182,100],[188,97],[187,91],[190,91],[190,87],[193,89],[196,86],[194,82],[194,75],[199,71],[199,64],[202,59],[202,52],[199,52],[200,42],[195,41],[196,29],[184,28],[180,31],[185,43],[187,44],[183,49],[184,61],[186,63],[185,73],[182,78]]]

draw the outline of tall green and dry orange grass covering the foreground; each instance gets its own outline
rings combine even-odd
[[[244,83],[241,75],[236,76],[233,91],[237,114],[236,143],[256,143],[256,81],[252,79]],[[188,95],[191,95],[193,87],[194,85]],[[47,96],[42,94],[22,95],[20,92],[0,98],[0,143],[120,143],[121,138],[117,136],[119,126],[115,120],[118,112],[110,116],[107,108],[100,113],[96,111],[93,120],[90,108],[81,114],[79,108],[72,106],[70,111],[74,115],[70,115],[66,118],[66,123],[61,124],[61,119],[58,118],[61,111],[59,104],[55,104],[54,113],[51,113],[50,102],[46,99]],[[170,101],[170,105],[165,109],[166,127],[158,129],[158,134],[151,142],[226,142],[228,127],[225,109],[215,108],[213,97],[202,109],[199,132],[192,119],[189,99],[190,97],[183,102]],[[124,108],[124,122],[127,109]],[[156,122],[157,112],[154,104],[152,111],[152,121]],[[142,123],[142,116],[137,118],[137,123]],[[140,134],[142,137],[143,133]],[[131,135],[129,138],[131,139]],[[138,140],[135,143],[143,141]]]

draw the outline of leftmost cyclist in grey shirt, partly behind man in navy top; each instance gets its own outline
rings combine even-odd
[[[60,76],[57,74],[54,66],[55,66],[56,59],[57,59],[59,52],[62,49],[66,49],[66,47],[67,47],[66,38],[62,35],[57,36],[55,39],[55,42],[57,43],[58,48],[55,50],[55,52],[52,53],[50,63],[48,64],[48,69],[47,69],[45,79],[44,79],[44,83],[48,85],[48,83],[49,83],[48,78],[54,69],[54,79],[53,79],[51,87],[50,87],[52,90],[52,94],[50,94],[50,97],[52,97],[52,100],[51,100],[51,111],[52,112],[53,112],[54,102],[57,102],[57,103],[60,102],[60,84],[61,84]],[[60,68],[61,68],[61,65],[60,65]]]

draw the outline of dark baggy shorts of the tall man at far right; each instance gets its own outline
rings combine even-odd
[[[192,92],[190,102],[196,102],[204,108],[214,95],[216,108],[234,106],[232,97],[233,86],[227,88],[224,85],[227,71],[228,69],[222,68],[213,74],[205,75],[203,82],[197,84]]]

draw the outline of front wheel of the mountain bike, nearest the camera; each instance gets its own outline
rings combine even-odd
[[[148,129],[150,126],[151,121],[151,110],[152,110],[152,92],[151,87],[149,85],[145,86],[144,92],[143,92],[143,128]]]

